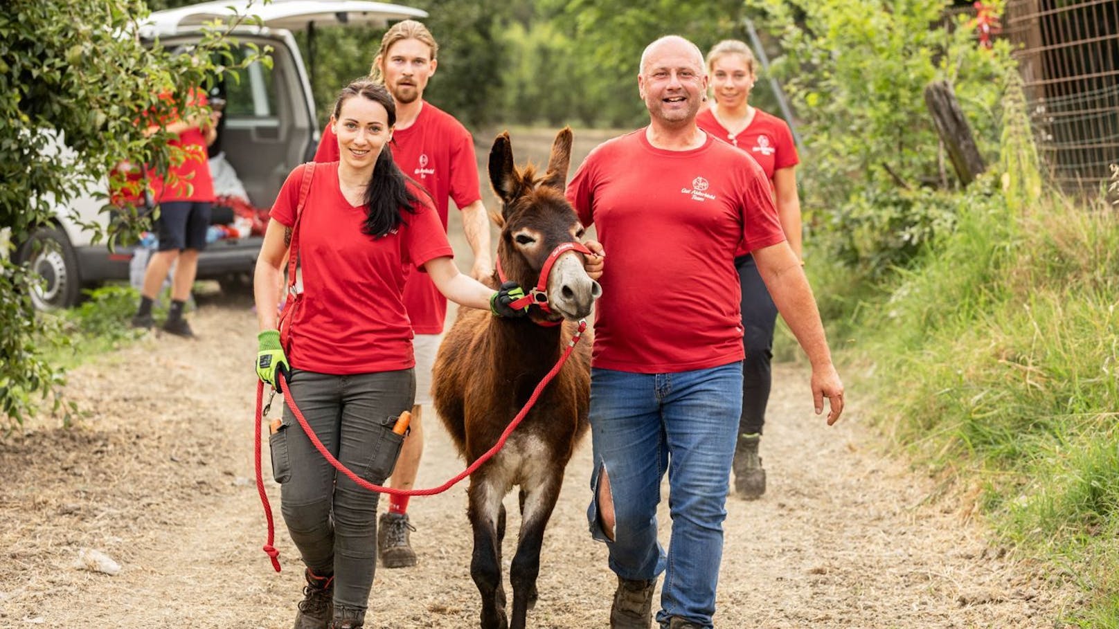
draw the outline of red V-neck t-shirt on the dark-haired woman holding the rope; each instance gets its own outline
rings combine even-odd
[[[272,206],[272,218],[295,223],[303,166],[288,176]],[[401,291],[407,269],[453,255],[435,210],[421,197],[416,214],[374,238],[361,233],[366,207],[346,200],[338,162],[322,163],[299,222],[303,301],[291,323],[288,360],[322,374],[366,374],[415,365],[412,326]],[[413,273],[415,271],[413,270]]]

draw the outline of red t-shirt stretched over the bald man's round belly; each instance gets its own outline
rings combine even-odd
[[[709,134],[668,151],[645,133],[599,145],[567,186],[608,253],[593,364],[658,374],[742,360],[735,251],[784,240],[769,181]]]

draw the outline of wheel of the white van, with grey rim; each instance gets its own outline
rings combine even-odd
[[[69,238],[57,227],[39,227],[16,251],[16,263],[39,275],[32,281],[31,303],[37,310],[56,310],[77,304],[82,282],[77,254]]]

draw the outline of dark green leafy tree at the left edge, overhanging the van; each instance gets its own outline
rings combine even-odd
[[[56,220],[55,207],[94,191],[123,160],[166,170],[170,135],[144,134],[144,116],[171,106],[162,93],[186,94],[239,67],[216,27],[186,54],[138,37],[141,0],[9,0],[0,13],[0,413],[21,420],[62,382],[37,340],[50,338],[28,287],[34,278],[10,261],[15,245]],[[223,53],[226,50],[226,53]],[[250,55],[241,63],[255,59]],[[223,65],[226,64],[226,65]],[[205,113],[184,107],[184,115]],[[107,209],[107,208],[106,208]],[[135,212],[128,214],[137,218]],[[72,218],[77,218],[76,216]],[[137,224],[124,222],[124,231]],[[97,225],[86,225],[98,231]],[[100,234],[105,237],[103,233]],[[55,396],[56,410],[58,398]]]

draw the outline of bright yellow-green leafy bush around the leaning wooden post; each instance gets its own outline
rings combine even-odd
[[[1005,41],[980,48],[943,0],[747,0],[779,37],[784,79],[806,139],[802,197],[810,228],[868,274],[908,264],[950,228],[958,188],[923,91],[953,85],[980,151],[998,154],[998,103],[1013,67]]]

